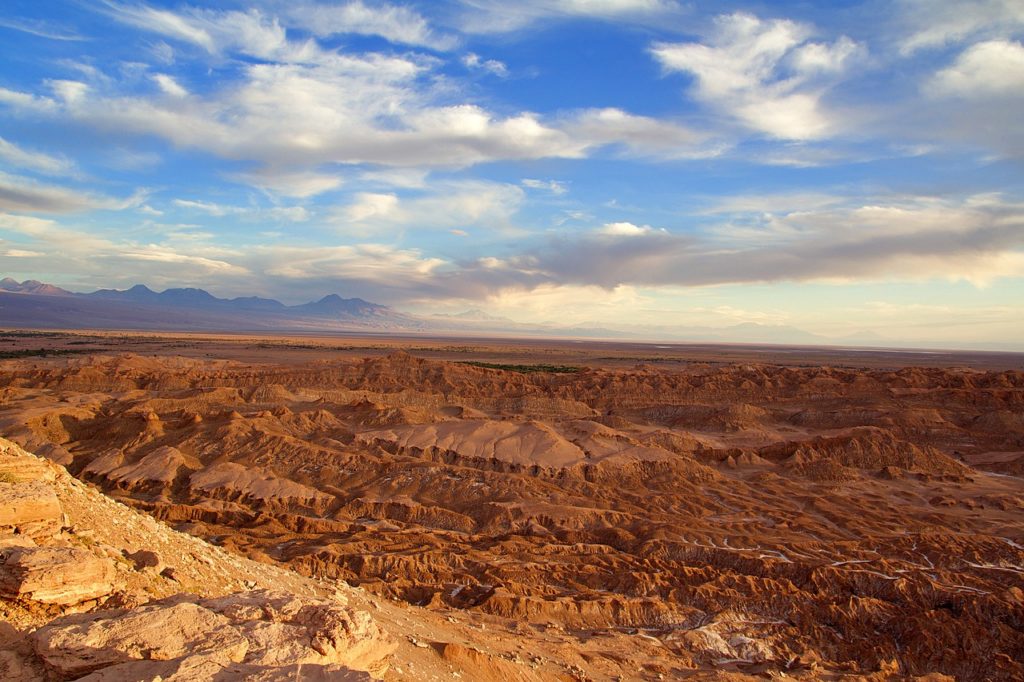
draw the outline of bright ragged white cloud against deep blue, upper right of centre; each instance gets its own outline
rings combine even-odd
[[[742,125],[781,139],[817,139],[837,131],[821,99],[863,48],[847,37],[811,42],[811,28],[751,14],[716,18],[707,43],[656,43],[667,71],[696,79],[693,95]]]

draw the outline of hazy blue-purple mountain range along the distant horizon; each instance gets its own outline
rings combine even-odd
[[[921,347],[871,331],[829,338],[784,325],[743,323],[730,327],[639,326],[589,323],[524,324],[471,309],[414,315],[361,298],[330,294],[301,305],[258,296],[217,298],[202,289],[156,292],[131,289],[70,292],[35,280],[0,280],[0,328],[108,329],[196,332],[380,332],[464,336],[518,336],[636,340],[651,343],[748,343]],[[933,346],[935,347],[935,346]],[[1015,344],[970,344],[977,350],[1024,350]]]

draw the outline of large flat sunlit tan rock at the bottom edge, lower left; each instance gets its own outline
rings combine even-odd
[[[97,680],[178,679],[211,668],[250,679],[306,666],[380,678],[395,648],[365,612],[268,591],[216,599],[179,595],[134,609],[68,615],[32,639],[56,676],[98,672],[87,678]]]

